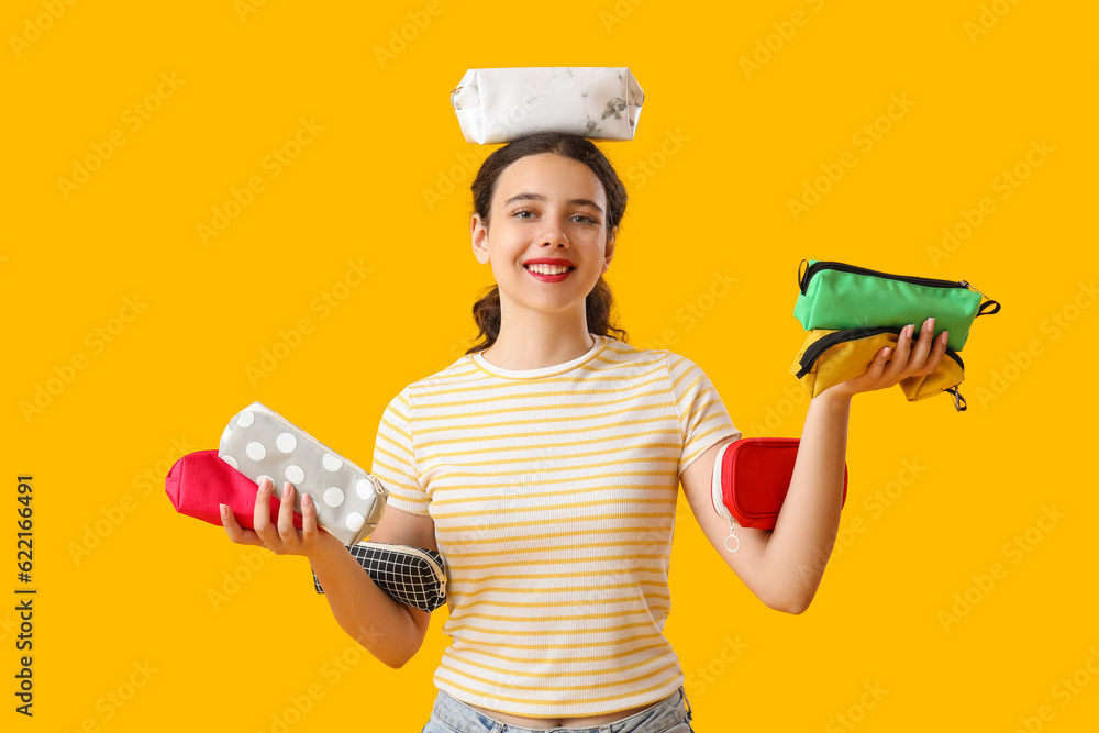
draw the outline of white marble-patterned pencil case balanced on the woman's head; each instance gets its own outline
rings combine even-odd
[[[451,92],[467,143],[507,143],[535,132],[633,140],[645,95],[621,66],[469,69]]]

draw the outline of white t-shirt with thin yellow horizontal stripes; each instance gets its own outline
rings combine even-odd
[[[684,684],[663,633],[679,474],[741,433],[690,359],[592,336],[539,369],[464,355],[381,419],[371,473],[446,563],[434,682],[458,700],[573,718]]]

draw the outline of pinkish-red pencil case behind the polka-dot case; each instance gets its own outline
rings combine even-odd
[[[168,471],[165,490],[180,514],[221,526],[221,508],[229,504],[241,526],[255,529],[256,492],[259,485],[218,457],[217,451],[188,453]],[[281,487],[270,497],[271,524],[278,523]],[[293,525],[301,529],[301,514],[293,512]]]

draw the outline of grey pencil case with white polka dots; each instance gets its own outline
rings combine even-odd
[[[260,402],[229,421],[218,456],[256,484],[269,478],[276,498],[290,481],[299,514],[308,493],[318,526],[345,545],[365,540],[386,510],[389,490],[381,481]]]

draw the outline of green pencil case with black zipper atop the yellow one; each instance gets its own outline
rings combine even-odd
[[[983,303],[986,296],[966,280],[891,275],[830,260],[802,259],[798,287],[793,315],[806,331],[909,323],[919,329],[934,316],[935,333],[948,331],[946,345],[955,352],[965,346],[974,319],[1000,310],[995,300]]]

